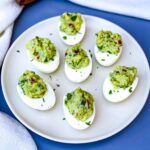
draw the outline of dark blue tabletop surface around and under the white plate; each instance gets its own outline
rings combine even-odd
[[[120,25],[139,42],[150,62],[150,21],[81,7],[70,3],[67,0],[38,0],[36,3],[25,7],[22,14],[15,22],[12,42],[33,24],[50,17],[60,15],[64,11],[75,11],[94,15],[108,19]],[[5,102],[1,89],[0,110],[14,117]],[[150,96],[144,109],[132,124],[115,136],[102,141],[79,145],[62,144],[47,140],[31,131],[29,132],[40,150],[150,150]]]

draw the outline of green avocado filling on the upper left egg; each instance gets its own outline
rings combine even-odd
[[[38,62],[48,63],[56,56],[56,48],[48,38],[36,36],[27,43],[26,48],[31,58]]]

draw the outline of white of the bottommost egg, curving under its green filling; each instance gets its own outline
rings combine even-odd
[[[66,96],[64,96],[63,98],[63,111],[64,111],[64,115],[65,115],[67,122],[74,129],[77,129],[77,130],[87,129],[93,123],[93,120],[95,118],[95,114],[96,114],[95,103],[93,103],[93,108],[94,108],[93,114],[86,121],[82,122],[82,121],[77,120],[72,114],[70,114],[68,108],[65,106],[65,98]],[[86,124],[88,122],[90,122],[90,125]]]

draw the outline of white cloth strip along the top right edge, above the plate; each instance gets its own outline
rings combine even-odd
[[[150,0],[70,0],[74,3],[150,20]]]

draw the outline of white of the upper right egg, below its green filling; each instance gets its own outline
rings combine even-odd
[[[94,47],[95,58],[98,61],[98,63],[102,66],[113,65],[119,59],[121,53],[122,53],[122,46],[120,47],[120,52],[117,55],[109,54],[107,52],[102,53],[96,45]]]

